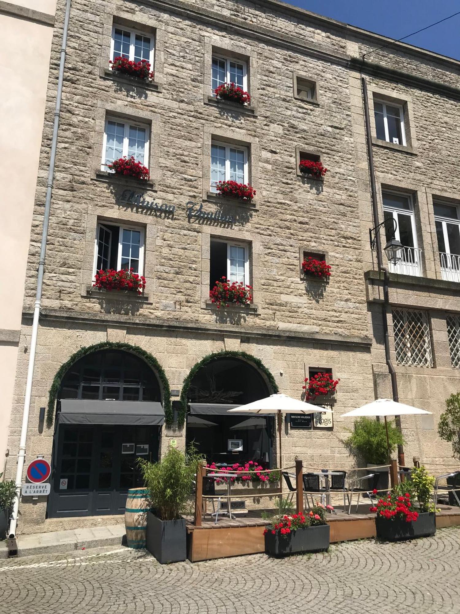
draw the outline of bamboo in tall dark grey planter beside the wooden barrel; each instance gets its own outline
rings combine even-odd
[[[185,519],[182,515],[195,486],[200,460],[193,449],[183,454],[169,448],[161,461],[140,461],[144,483],[150,494],[146,547],[160,563],[186,559]]]

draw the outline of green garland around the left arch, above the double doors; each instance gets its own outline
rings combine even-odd
[[[131,345],[131,343],[120,343],[118,341],[102,341],[102,343],[96,343],[92,346],[87,346],[84,348],[80,348],[78,352],[72,354],[72,356],[64,362],[61,367],[59,367],[58,372],[53,379],[53,383],[50,387],[50,392],[48,394],[48,411],[47,411],[47,423],[48,426],[53,424],[53,419],[55,415],[55,407],[56,407],[56,398],[58,397],[59,388],[61,387],[61,383],[63,381],[64,376],[66,375],[69,368],[83,358],[83,356],[87,356],[88,354],[93,354],[93,352],[98,352],[101,349],[118,349],[123,350],[125,352],[130,352],[134,354],[134,356],[138,356],[145,360],[145,362],[151,367],[153,371],[155,371],[156,376],[158,376],[159,381],[163,386],[163,409],[164,409],[164,417],[166,419],[166,424],[172,423],[172,408],[171,408],[171,389],[169,388],[169,382],[167,381],[166,373],[164,373],[163,367],[161,367],[160,363],[154,356],[146,352],[145,349],[139,348],[139,346]]]

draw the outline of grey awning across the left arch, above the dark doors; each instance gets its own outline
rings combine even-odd
[[[59,424],[161,425],[164,411],[156,401],[92,401],[64,398]]]

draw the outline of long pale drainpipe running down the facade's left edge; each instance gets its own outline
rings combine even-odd
[[[71,0],[66,2],[66,17],[64,18],[63,44],[61,47],[61,60],[59,62],[58,93],[56,95],[55,120],[53,125],[53,140],[51,144],[50,167],[48,169],[47,194],[45,199],[45,211],[43,216],[42,244],[40,246],[40,260],[37,273],[37,290],[35,295],[34,319],[32,323],[32,337],[29,350],[29,365],[27,370],[26,394],[24,398],[24,410],[22,416],[21,438],[19,441],[18,467],[16,471],[16,497],[10,520],[9,537],[16,534],[18,523],[19,498],[21,496],[22,473],[26,457],[27,427],[29,424],[30,400],[32,395],[32,382],[34,378],[35,350],[37,347],[38,325],[40,308],[42,306],[43,274],[45,271],[45,254],[47,249],[48,222],[50,220],[51,197],[53,193],[53,176],[55,172],[56,149],[58,146],[59,115],[61,113],[61,98],[63,95],[64,64],[66,63],[67,31],[69,29],[69,17],[71,13]]]

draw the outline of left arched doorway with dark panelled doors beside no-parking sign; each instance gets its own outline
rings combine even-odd
[[[76,360],[57,392],[48,517],[121,514],[141,484],[138,459],[158,459],[162,386],[136,354],[100,349]]]

